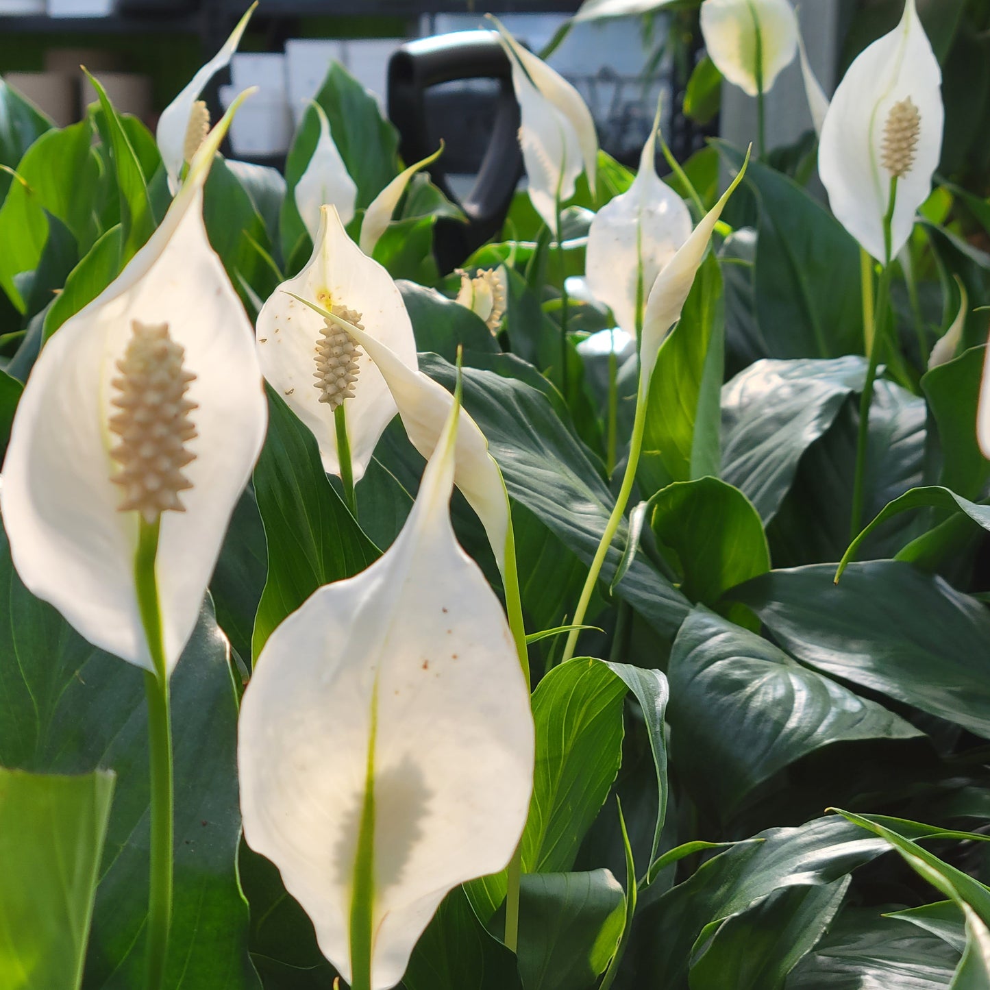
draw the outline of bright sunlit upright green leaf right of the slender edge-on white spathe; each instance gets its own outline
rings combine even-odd
[[[710,254],[698,269],[680,322],[660,347],[650,380],[637,472],[646,495],[668,479],[718,473],[724,348],[722,274]]]

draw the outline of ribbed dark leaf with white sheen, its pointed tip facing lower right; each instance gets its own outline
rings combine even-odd
[[[681,627],[669,676],[678,767],[724,820],[757,785],[822,746],[922,737],[704,608]]]

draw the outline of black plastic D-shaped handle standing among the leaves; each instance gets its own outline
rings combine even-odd
[[[400,153],[407,162],[437,150],[428,147],[427,90],[458,79],[494,79],[500,85],[488,148],[467,196],[459,201],[450,189],[444,155],[429,168],[433,181],[467,217],[466,225],[446,218],[437,222],[434,253],[445,273],[501,229],[523,174],[512,67],[490,31],[461,31],[410,42],[388,64],[388,115],[398,129]]]

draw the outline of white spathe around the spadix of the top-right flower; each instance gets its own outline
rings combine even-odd
[[[832,212],[873,257],[889,259],[883,218],[890,205],[890,174],[882,164],[890,111],[910,98],[921,130],[914,163],[897,183],[890,257],[911,236],[918,208],[932,191],[939,164],[944,110],[941,70],[918,17],[907,0],[900,24],[860,52],[842,78],[822,127],[818,168]]]

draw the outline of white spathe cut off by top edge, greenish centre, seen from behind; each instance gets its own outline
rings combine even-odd
[[[716,68],[749,96],[760,91],[757,41],[764,93],[797,54],[798,22],[787,0],[705,0],[701,33]]]

